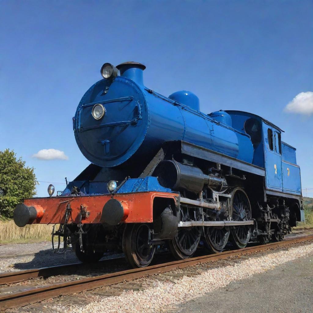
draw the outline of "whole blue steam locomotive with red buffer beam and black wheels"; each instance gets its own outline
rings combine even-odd
[[[304,220],[296,149],[279,127],[248,112],[202,113],[189,91],[160,95],[144,86],[145,68],[102,66],[73,117],[91,164],[57,196],[50,185],[49,197],[18,204],[18,226],[60,224],[53,236],[80,261],[122,251],[144,267],[160,247],[177,259],[199,245],[244,248]]]

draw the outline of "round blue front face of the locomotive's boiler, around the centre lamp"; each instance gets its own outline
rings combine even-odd
[[[105,88],[108,91],[104,94]],[[93,105],[106,110],[100,120],[91,115]],[[113,167],[128,160],[141,146],[149,123],[145,96],[133,80],[118,76],[100,80],[83,96],[75,114],[74,135],[90,162]]]

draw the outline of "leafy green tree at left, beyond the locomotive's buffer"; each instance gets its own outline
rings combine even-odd
[[[13,150],[0,151],[0,218],[12,218],[16,205],[36,194],[34,168],[25,163]]]

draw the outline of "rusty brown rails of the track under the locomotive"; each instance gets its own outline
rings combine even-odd
[[[154,275],[158,273],[165,273],[175,269],[181,269],[196,264],[207,263],[211,261],[217,261],[221,259],[227,259],[229,257],[240,256],[244,254],[252,254],[268,249],[285,247],[296,243],[306,242],[313,240],[313,235],[302,236],[295,239],[287,239],[280,242],[269,243],[265,245],[252,246],[239,250],[230,250],[218,254],[198,256],[190,259],[172,261],[162,264],[156,264],[148,266],[146,268],[129,269],[120,272],[114,272],[105,275],[98,275],[94,277],[88,277],[78,280],[71,280],[62,283],[55,283],[45,286],[24,287],[23,290],[12,292],[4,295],[0,295],[0,309],[23,306],[30,303],[38,302],[47,298],[56,297],[59,295],[77,293],[85,290],[92,290],[106,285],[113,285],[121,283],[123,281],[131,281],[143,276]],[[6,273],[0,275],[1,284],[9,284],[16,281],[27,280],[33,277],[39,277],[39,275],[51,275],[49,270],[56,270],[57,272],[66,271],[69,266],[73,264],[64,265],[61,267],[44,268],[26,270],[15,273]],[[74,266],[81,266],[82,264],[74,264]]]

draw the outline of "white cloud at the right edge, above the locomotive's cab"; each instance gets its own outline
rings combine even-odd
[[[285,112],[299,114],[313,114],[313,92],[300,92],[284,109]]]

